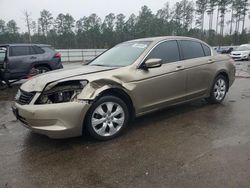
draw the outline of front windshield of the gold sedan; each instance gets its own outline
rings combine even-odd
[[[119,44],[94,59],[89,65],[108,67],[125,67],[131,65],[140,57],[150,43],[126,42]]]

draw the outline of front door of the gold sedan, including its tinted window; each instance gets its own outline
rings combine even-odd
[[[186,96],[187,74],[182,68],[177,41],[158,44],[146,60],[151,58],[162,59],[163,64],[158,68],[138,69],[136,73],[140,78],[134,90],[139,113],[181,102]]]

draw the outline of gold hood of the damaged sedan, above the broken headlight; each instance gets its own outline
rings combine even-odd
[[[31,78],[21,86],[21,89],[27,92],[41,92],[43,91],[44,87],[49,83],[53,83],[59,80],[72,79],[73,77],[76,76],[87,75],[97,72],[104,72],[113,69],[115,68],[89,66],[89,65],[69,70],[61,69]]]

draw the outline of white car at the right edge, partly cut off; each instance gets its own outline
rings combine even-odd
[[[250,44],[240,45],[230,55],[235,60],[250,60]]]

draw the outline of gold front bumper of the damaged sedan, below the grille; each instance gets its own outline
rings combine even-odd
[[[14,103],[12,110],[18,120],[33,132],[50,138],[69,138],[82,135],[87,101],[43,105]]]

